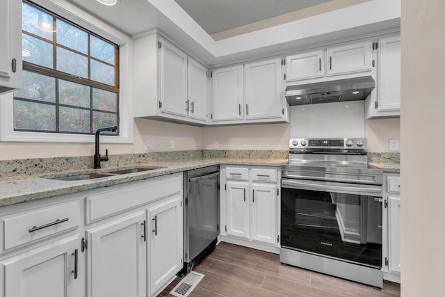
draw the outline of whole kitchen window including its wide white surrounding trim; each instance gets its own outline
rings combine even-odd
[[[0,141],[132,143],[132,40],[70,3],[22,2],[23,88],[0,99]],[[123,79],[120,79],[123,77]]]

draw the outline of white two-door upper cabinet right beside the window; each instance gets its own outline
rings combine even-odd
[[[207,69],[156,33],[133,40],[135,118],[207,124]]]

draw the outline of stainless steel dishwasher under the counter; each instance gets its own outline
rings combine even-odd
[[[220,234],[220,168],[184,172],[184,268],[189,273]]]

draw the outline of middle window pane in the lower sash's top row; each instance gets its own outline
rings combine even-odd
[[[70,81],[58,81],[58,101],[60,104],[68,104],[81,107],[90,107],[90,87]]]

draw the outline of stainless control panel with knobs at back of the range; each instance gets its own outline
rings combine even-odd
[[[289,148],[292,149],[364,149],[368,147],[366,138],[291,138]]]

